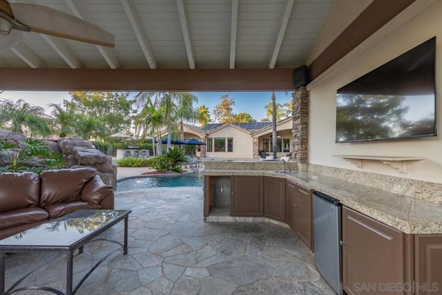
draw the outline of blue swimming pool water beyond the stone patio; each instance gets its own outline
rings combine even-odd
[[[203,178],[198,175],[129,178],[117,182],[117,191],[149,189],[152,187],[202,187],[202,182]]]

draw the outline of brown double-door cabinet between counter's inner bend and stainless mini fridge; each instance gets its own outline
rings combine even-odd
[[[287,224],[302,242],[313,249],[313,229],[311,220],[311,191],[294,182],[286,182]]]

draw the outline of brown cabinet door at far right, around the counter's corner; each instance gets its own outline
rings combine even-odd
[[[442,294],[442,235],[414,236],[416,295]]]

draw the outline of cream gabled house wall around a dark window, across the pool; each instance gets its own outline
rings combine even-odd
[[[250,133],[225,126],[222,129],[209,133],[206,138],[233,137],[233,152],[213,152],[206,150],[206,158],[253,158],[253,138]],[[206,146],[206,149],[208,147]]]

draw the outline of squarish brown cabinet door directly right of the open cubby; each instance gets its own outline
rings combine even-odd
[[[231,216],[263,216],[262,177],[231,176]]]

